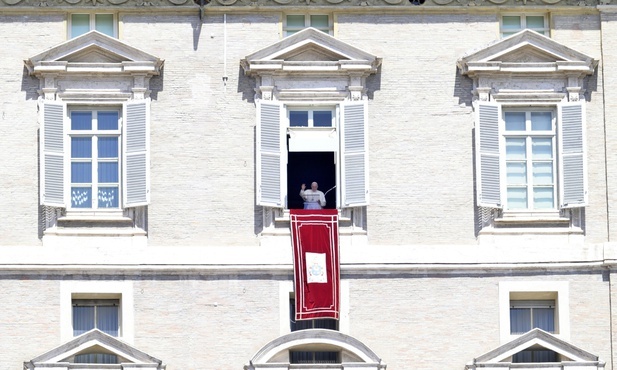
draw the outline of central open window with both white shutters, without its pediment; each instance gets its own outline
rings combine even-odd
[[[258,104],[258,202],[302,208],[300,184],[319,184],[326,208],[368,203],[366,102],[287,107]]]

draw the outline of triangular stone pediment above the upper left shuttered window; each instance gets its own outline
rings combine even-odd
[[[103,73],[141,71],[156,75],[163,60],[116,38],[90,31],[45,50],[25,60],[25,63],[33,74],[96,68]]]

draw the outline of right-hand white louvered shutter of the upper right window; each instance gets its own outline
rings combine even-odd
[[[587,205],[584,117],[583,102],[559,105],[560,208]]]

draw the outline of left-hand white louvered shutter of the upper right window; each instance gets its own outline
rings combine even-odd
[[[498,104],[476,107],[476,192],[481,207],[501,208]]]

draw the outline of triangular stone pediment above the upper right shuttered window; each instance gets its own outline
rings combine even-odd
[[[593,74],[598,61],[532,30],[520,31],[458,61],[463,74]]]

